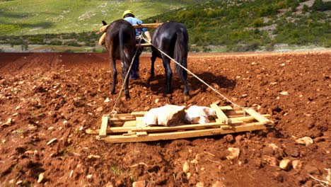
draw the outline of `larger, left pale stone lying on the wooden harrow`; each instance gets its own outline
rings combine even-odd
[[[152,108],[143,118],[145,127],[150,125],[178,125],[185,118],[185,106],[166,105]]]

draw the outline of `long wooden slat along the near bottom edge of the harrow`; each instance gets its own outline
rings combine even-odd
[[[183,132],[162,132],[162,133],[149,134],[140,137],[137,135],[129,135],[129,136],[112,135],[108,137],[97,136],[96,138],[97,140],[104,140],[105,142],[111,142],[111,143],[150,142],[156,140],[175,140],[175,139],[187,138],[187,137],[222,135],[222,134],[229,134],[235,132],[263,130],[263,129],[266,129],[266,127],[261,123],[249,123],[247,125],[240,125],[229,129],[218,128],[218,129],[204,129],[204,130],[188,130]]]

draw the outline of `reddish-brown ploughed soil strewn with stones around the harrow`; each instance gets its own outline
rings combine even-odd
[[[182,94],[177,75],[173,94],[165,95],[161,60],[156,80],[147,84],[149,59],[141,57],[141,79],[130,81],[132,99],[121,96],[117,112],[221,100],[192,76],[190,98]],[[98,142],[84,130],[100,128],[122,84],[119,74],[117,94],[109,94],[107,54],[0,53],[1,186],[131,186],[133,181],[147,186],[316,186],[315,179],[326,180],[331,51],[191,54],[188,62],[192,72],[228,98],[271,114],[274,128],[187,140]],[[298,145],[295,140],[305,136],[314,143]],[[53,138],[57,141],[47,145]],[[226,159],[228,147],[240,149],[238,159]],[[91,154],[100,158],[89,159]],[[194,159],[188,177],[182,166]],[[282,159],[299,160],[302,167],[280,169]],[[37,183],[41,173],[44,179]]]

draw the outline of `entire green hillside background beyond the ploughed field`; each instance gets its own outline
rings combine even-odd
[[[104,51],[96,46],[100,35],[95,30],[101,20],[120,18],[125,9],[134,10],[145,23],[184,23],[191,51],[331,47],[331,1],[322,0],[0,0],[0,45]]]

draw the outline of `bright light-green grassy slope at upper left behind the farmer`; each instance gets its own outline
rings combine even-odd
[[[0,1],[0,35],[81,33],[98,30],[101,20],[121,18],[126,9],[144,19],[191,4],[194,1]]]

